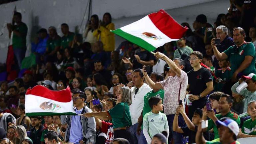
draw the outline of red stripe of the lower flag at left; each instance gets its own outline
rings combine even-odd
[[[69,86],[66,89],[60,91],[50,90],[42,85],[36,85],[31,89],[28,89],[26,94],[33,94],[36,96],[41,96],[49,98],[59,102],[70,102],[72,99],[71,90]]]

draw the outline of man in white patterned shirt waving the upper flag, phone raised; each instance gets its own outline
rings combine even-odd
[[[179,106],[179,100],[182,100],[184,106],[184,99],[186,95],[186,88],[188,85],[187,73],[182,71],[185,66],[185,62],[182,59],[176,58],[173,61],[162,53],[156,52],[157,59],[163,59],[166,61],[170,70],[168,72],[169,77],[160,82],[153,82],[148,76],[147,72],[143,71],[145,78],[148,81],[148,85],[153,89],[164,89],[164,113],[167,116],[169,124],[169,138],[168,143],[171,143],[174,139],[175,144],[183,144],[183,136],[181,133],[174,132],[172,130],[173,118],[175,116],[176,107]],[[143,69],[144,70],[144,69]],[[185,126],[185,122],[182,116],[178,120],[179,126]]]

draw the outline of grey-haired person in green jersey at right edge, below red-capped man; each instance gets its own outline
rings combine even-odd
[[[256,101],[250,101],[248,103],[247,112],[251,116],[243,124],[242,131],[239,132],[239,138],[256,137]]]

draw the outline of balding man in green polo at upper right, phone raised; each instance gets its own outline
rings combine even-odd
[[[243,28],[236,28],[233,31],[233,40],[235,45],[220,53],[217,50],[215,39],[212,39],[211,45],[217,60],[229,59],[231,63],[232,81],[237,81],[238,73],[248,75],[255,73],[255,47],[253,43],[244,41],[245,31]]]

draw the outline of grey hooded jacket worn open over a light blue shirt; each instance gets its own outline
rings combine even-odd
[[[75,109],[75,108],[74,108]],[[92,112],[90,108],[84,106],[82,113]],[[61,124],[68,124],[65,134],[65,140],[69,141],[70,126],[71,126],[72,115],[61,115]],[[83,132],[83,140],[86,138],[86,144],[95,144],[96,141],[96,122],[94,117],[80,116]]]

